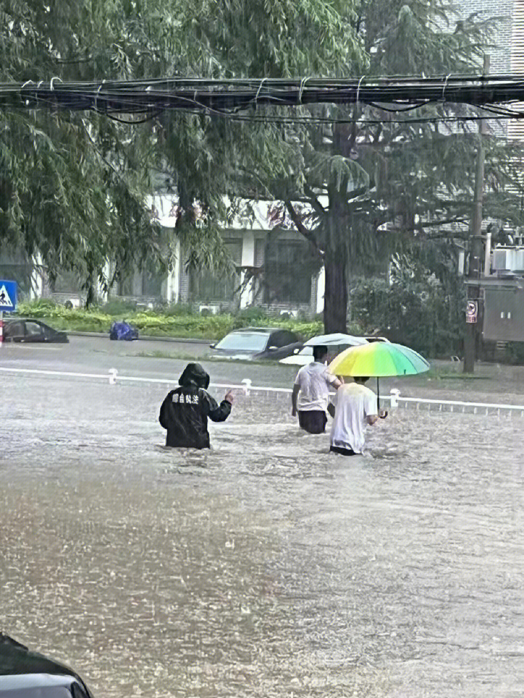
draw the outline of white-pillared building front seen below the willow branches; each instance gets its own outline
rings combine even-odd
[[[256,202],[250,207],[253,216],[236,218],[223,226],[223,242],[234,264],[232,274],[223,274],[209,269],[188,269],[190,251],[180,244],[175,232],[176,202],[170,197],[151,197],[151,211],[168,241],[170,271],[161,272],[154,262],[146,262],[117,281],[109,294],[99,288],[99,300],[121,299],[145,307],[188,304],[207,313],[249,306],[292,315],[322,312],[323,270],[304,237],[294,230],[277,230],[271,223],[272,204]],[[107,278],[112,272],[114,268],[108,260]],[[47,297],[73,306],[85,302],[85,293],[75,274],[63,272],[51,284],[38,260],[27,260],[19,253],[0,253],[0,274],[1,278],[18,281],[24,297]]]

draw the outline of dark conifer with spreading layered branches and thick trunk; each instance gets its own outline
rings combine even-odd
[[[353,24],[368,65],[338,70],[361,75],[363,82],[368,75],[471,73],[479,69],[491,26],[479,17],[461,20],[442,0],[368,0],[359,4]],[[294,131],[300,178],[294,178],[293,163],[287,177],[269,188],[284,198],[297,230],[322,258],[325,331],[343,332],[352,276],[373,274],[391,253],[467,222],[475,142],[467,128],[463,133],[447,126],[445,117],[457,115],[451,105],[419,109],[416,121],[387,105],[329,106],[309,114],[323,121]],[[264,170],[262,179],[269,183],[271,172]],[[308,203],[307,221],[294,200]]]

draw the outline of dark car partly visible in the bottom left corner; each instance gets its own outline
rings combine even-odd
[[[93,698],[82,678],[0,633],[0,698]]]

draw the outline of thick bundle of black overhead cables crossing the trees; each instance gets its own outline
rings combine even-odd
[[[349,80],[165,78],[121,82],[61,82],[53,78],[50,82],[0,83],[0,110],[94,111],[113,118],[148,117],[171,110],[248,117],[258,105],[361,104],[405,112],[435,103],[484,107],[497,118],[523,118],[523,102],[524,76],[509,74]]]

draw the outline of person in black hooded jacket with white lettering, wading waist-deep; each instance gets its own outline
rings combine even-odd
[[[179,378],[178,388],[167,393],[160,407],[158,421],[167,429],[166,446],[209,448],[207,418],[224,422],[229,417],[231,391],[218,405],[207,392],[209,374],[200,364],[188,364]]]

